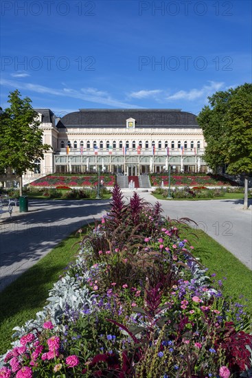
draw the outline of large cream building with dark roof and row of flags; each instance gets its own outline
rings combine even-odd
[[[80,109],[62,118],[38,112],[51,145],[34,177],[108,171],[124,175],[205,172],[205,140],[196,115],[181,109]]]

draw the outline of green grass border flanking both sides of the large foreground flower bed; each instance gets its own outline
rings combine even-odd
[[[181,236],[194,245],[194,255],[209,268],[209,275],[216,274],[216,282],[227,278],[223,280],[225,295],[248,304],[248,311],[252,314],[252,272],[202,230],[187,230]],[[79,240],[80,236],[71,234],[0,293],[0,354],[10,347],[14,326],[21,326],[43,309],[49,289],[67,264],[75,260],[78,245],[73,245]],[[239,299],[240,294],[243,298]]]

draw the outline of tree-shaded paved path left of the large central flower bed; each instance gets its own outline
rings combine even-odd
[[[35,201],[0,219],[0,291],[82,225],[100,219],[109,200]]]

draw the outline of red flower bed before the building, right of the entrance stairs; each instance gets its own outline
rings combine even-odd
[[[168,175],[150,176],[150,183],[152,186],[161,186],[163,181],[164,186],[168,186]],[[230,186],[231,181],[218,176],[210,175],[171,175],[170,184],[172,186]]]

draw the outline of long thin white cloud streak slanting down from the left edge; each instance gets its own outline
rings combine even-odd
[[[95,88],[82,88],[80,90],[71,89],[71,88],[62,88],[62,89],[54,89],[49,87],[44,87],[43,85],[32,84],[32,83],[25,83],[25,82],[16,82],[14,80],[1,80],[1,85],[5,85],[7,87],[14,87],[17,89],[25,89],[34,91],[36,93],[47,93],[53,96],[63,96],[63,97],[71,97],[71,98],[78,98],[80,100],[94,102],[96,104],[103,104],[106,106],[111,107],[118,107],[118,108],[129,108],[135,109],[139,108],[137,105],[128,104],[126,102],[122,102],[115,98],[112,98],[108,93],[104,91],[99,91]]]

